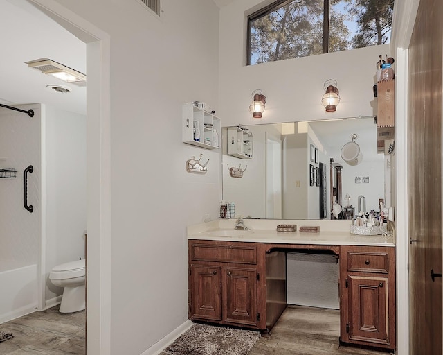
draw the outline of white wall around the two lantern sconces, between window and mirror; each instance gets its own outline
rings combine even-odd
[[[389,46],[373,46],[306,58],[245,66],[245,16],[264,1],[232,1],[220,10],[220,107],[223,125],[309,121],[371,116],[376,108],[372,85],[380,54]],[[268,1],[269,2],[269,1]],[[337,81],[341,101],[336,112],[325,112],[323,84]],[[266,96],[263,118],[253,119],[248,107],[251,93]]]

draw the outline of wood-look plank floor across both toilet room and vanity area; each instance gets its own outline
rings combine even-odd
[[[59,313],[58,306],[0,324],[14,338],[0,343],[1,355],[85,355],[85,313]],[[386,355],[340,346],[339,311],[288,306],[248,355]],[[162,353],[161,355],[164,355]]]

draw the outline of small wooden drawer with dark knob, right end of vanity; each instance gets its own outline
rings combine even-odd
[[[389,273],[388,252],[347,252],[347,270],[354,272]]]

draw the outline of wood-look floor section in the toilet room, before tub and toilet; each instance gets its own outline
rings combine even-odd
[[[59,313],[59,306],[0,324],[14,338],[0,343],[1,355],[84,355],[85,312]]]

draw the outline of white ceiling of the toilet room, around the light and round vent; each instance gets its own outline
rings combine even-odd
[[[62,110],[86,114],[86,87],[65,83],[28,68],[25,62],[49,58],[87,74],[86,44],[26,0],[0,0],[2,53],[0,103],[44,103]],[[68,87],[57,93],[47,85]]]

